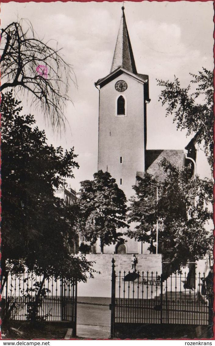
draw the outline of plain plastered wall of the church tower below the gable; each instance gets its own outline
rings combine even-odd
[[[115,90],[118,80],[127,83],[127,90]],[[125,116],[116,116],[120,95],[125,98]],[[107,169],[129,199],[137,171],[144,171],[144,90],[125,73],[100,90],[98,170]]]

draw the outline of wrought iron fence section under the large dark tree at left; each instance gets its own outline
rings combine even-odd
[[[32,272],[8,273],[1,294],[1,313],[10,319],[28,320],[30,309],[36,302],[36,294],[43,281]],[[76,326],[77,282],[54,277],[45,279],[43,294],[37,304],[37,317],[46,321],[68,321]]]

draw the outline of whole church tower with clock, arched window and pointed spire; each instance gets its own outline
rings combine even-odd
[[[124,7],[110,73],[99,79],[98,170],[108,171],[129,199],[137,171],[144,172],[148,75],[137,73]]]

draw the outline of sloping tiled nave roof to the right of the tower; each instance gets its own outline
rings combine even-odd
[[[181,170],[185,165],[184,150],[146,150],[145,171],[159,181],[163,181],[166,176],[162,167],[159,165],[164,158]],[[144,172],[137,172],[137,175],[143,177]]]

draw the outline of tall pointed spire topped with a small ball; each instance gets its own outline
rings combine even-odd
[[[124,7],[122,7],[122,17],[116,40],[111,72],[118,69],[118,67],[122,67],[129,72],[137,74],[134,56],[131,48],[131,42],[125,21]]]

